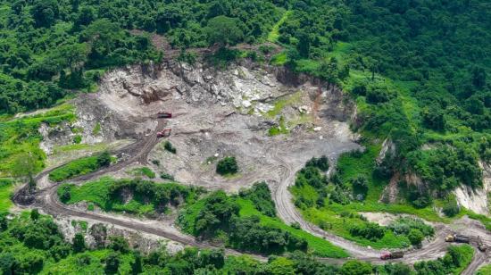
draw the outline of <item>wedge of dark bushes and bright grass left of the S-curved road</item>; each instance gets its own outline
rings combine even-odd
[[[261,200],[266,200],[263,197],[265,188],[267,186],[258,184],[254,192],[245,193],[251,199],[260,196],[260,193]],[[320,256],[347,256],[345,251],[328,241],[287,226],[278,218],[263,214],[256,207],[253,201],[245,197],[227,196],[218,191],[195,204],[187,205],[179,213],[178,224],[189,234],[221,241],[226,246],[245,251],[281,254],[306,249]],[[237,230],[240,234],[237,234]]]

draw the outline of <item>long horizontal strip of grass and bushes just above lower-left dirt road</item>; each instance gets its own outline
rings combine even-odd
[[[64,184],[58,188],[58,196],[65,204],[87,202],[96,204],[106,212],[129,212],[147,216],[166,212],[171,205],[193,202],[202,192],[200,188],[175,183],[111,178],[90,181],[81,187]]]

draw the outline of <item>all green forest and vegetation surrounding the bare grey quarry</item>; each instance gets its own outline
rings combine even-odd
[[[462,185],[482,187],[482,163],[491,162],[490,42],[488,0],[0,0],[0,271],[458,274],[471,261],[470,246],[450,246],[445,256],[412,267],[322,262],[317,257],[349,255],[299,224],[281,221],[265,182],[230,195],[181,186],[170,174],[161,178],[171,182],[157,185],[154,171],[143,167],[128,172],[137,179],[65,183],[117,162],[108,152],[48,173],[48,179],[62,183],[58,196],[63,204],[85,203],[87,211],[140,218],[172,212],[188,235],[261,254],[266,261],[197,248],[141,254],[122,237],[88,247],[82,234],[65,239],[49,216],[8,210],[16,182],[34,186],[35,175],[46,168],[37,130],[42,123],[54,127],[76,121],[67,101],[95,92],[106,71],[162,63],[172,52],[179,53],[180,62],[200,58],[217,70],[244,59],[285,68],[339,87],[354,102],[350,127],[361,134],[365,150],[342,154],[330,177],[328,157],[312,158],[295,171],[289,189],[304,219],[320,229],[375,249],[420,247],[435,236],[421,219],[451,222],[467,214],[491,230],[489,215],[460,207],[452,193]],[[243,50],[241,45],[252,47]],[[273,48],[278,50],[270,56]],[[206,50],[196,56],[193,49]],[[50,109],[19,115],[45,108]],[[284,124],[281,116],[269,137],[289,135]],[[383,143],[394,150],[377,160]],[[164,148],[180,153],[170,141]],[[227,156],[216,172],[228,179],[240,177],[243,168]],[[413,177],[404,177],[413,175],[423,184],[414,187],[406,180]],[[381,197],[390,179],[400,190],[395,204]],[[121,194],[128,192],[132,197],[126,202]],[[360,212],[418,218],[380,226]]]

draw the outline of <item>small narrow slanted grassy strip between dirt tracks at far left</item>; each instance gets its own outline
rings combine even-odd
[[[51,171],[49,173],[49,179],[56,182],[72,179],[93,171],[97,171],[102,167],[107,167],[111,164],[111,161],[111,154],[108,152],[80,158],[63,165],[60,168],[56,168],[54,171]]]

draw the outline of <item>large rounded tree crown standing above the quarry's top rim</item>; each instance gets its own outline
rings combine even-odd
[[[217,16],[208,21],[206,32],[210,45],[234,46],[244,39],[241,22],[237,18]]]

